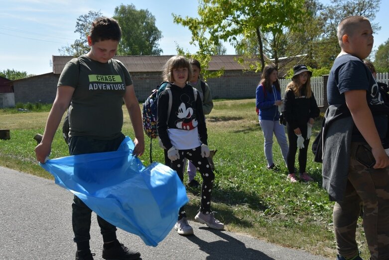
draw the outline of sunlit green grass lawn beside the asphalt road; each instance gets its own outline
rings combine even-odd
[[[30,113],[28,116],[9,113],[0,111],[0,124],[11,130],[10,140],[0,140],[0,165],[49,178],[50,175],[37,166],[33,151],[36,142],[32,139],[35,133],[43,132],[48,112]],[[133,137],[129,116],[127,113],[124,116],[123,132]],[[315,123],[311,143],[319,130],[320,121]],[[3,128],[1,125],[0,128]],[[218,212],[216,216],[226,224],[226,229],[334,258],[333,203],[329,202],[326,191],[321,188],[321,164],[313,162],[310,147],[307,172],[315,181],[292,184],[286,181],[287,169],[276,140],[273,157],[279,171],[266,169],[263,135],[254,99],[215,100],[214,109],[207,116],[207,129],[210,148],[218,149],[214,157],[216,179],[212,210]],[[144,164],[149,163],[149,144],[150,139],[145,137],[146,149],[140,158]],[[67,154],[58,130],[51,156],[56,158]],[[156,140],[152,141],[152,157],[154,161],[164,161],[163,151]],[[199,175],[196,179],[201,181]],[[199,189],[188,189],[190,202],[187,213],[190,218],[199,208],[199,192]],[[362,257],[368,259],[360,227],[357,241],[361,245]]]

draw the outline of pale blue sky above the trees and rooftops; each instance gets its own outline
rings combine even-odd
[[[195,17],[198,0],[0,0],[0,71],[14,69],[34,75],[52,72],[52,55],[60,55],[58,49],[79,38],[74,30],[80,15],[94,10],[113,16],[115,7],[122,3],[148,9],[155,16],[155,25],[163,36],[159,41],[163,55],[177,54],[176,44],[192,53],[197,51],[189,44],[189,29],[174,24],[172,13]],[[382,29],[375,32],[373,49],[389,39],[388,14],[389,0],[382,0],[373,21]],[[229,43],[224,46],[227,54],[235,54]]]

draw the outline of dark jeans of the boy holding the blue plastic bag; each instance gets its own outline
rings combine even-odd
[[[118,150],[125,136],[121,134],[113,140],[97,140],[85,136],[72,136],[69,138],[70,155],[113,152]],[[77,249],[89,248],[92,210],[77,196],[74,196],[72,204],[72,225],[74,232],[73,241],[77,243]],[[104,242],[116,240],[116,227],[97,216]]]

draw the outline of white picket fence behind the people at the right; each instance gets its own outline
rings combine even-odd
[[[389,73],[377,73],[377,82],[383,82],[389,85]],[[281,87],[281,97],[284,98],[287,84],[291,79],[280,79],[279,85]],[[311,87],[318,106],[324,105],[324,80],[323,76],[311,78]]]

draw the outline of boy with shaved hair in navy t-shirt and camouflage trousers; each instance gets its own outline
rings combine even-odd
[[[363,62],[374,42],[369,20],[363,16],[343,19],[338,26],[338,40],[342,51],[328,78],[328,104],[347,106],[346,113],[351,114],[350,122],[354,126],[351,126],[347,154],[337,155],[346,161],[336,158],[332,169],[324,167],[326,160],[333,160],[325,156],[326,150],[343,151],[334,142],[328,144],[333,137],[327,136],[330,139],[323,150],[323,186],[336,201],[333,221],[337,259],[361,260],[355,241],[360,203],[364,207],[364,229],[371,259],[389,259],[389,157],[382,145],[388,131],[388,114],[378,84]],[[345,134],[340,128],[332,131]],[[346,171],[334,170],[338,164],[345,163],[349,164]]]

